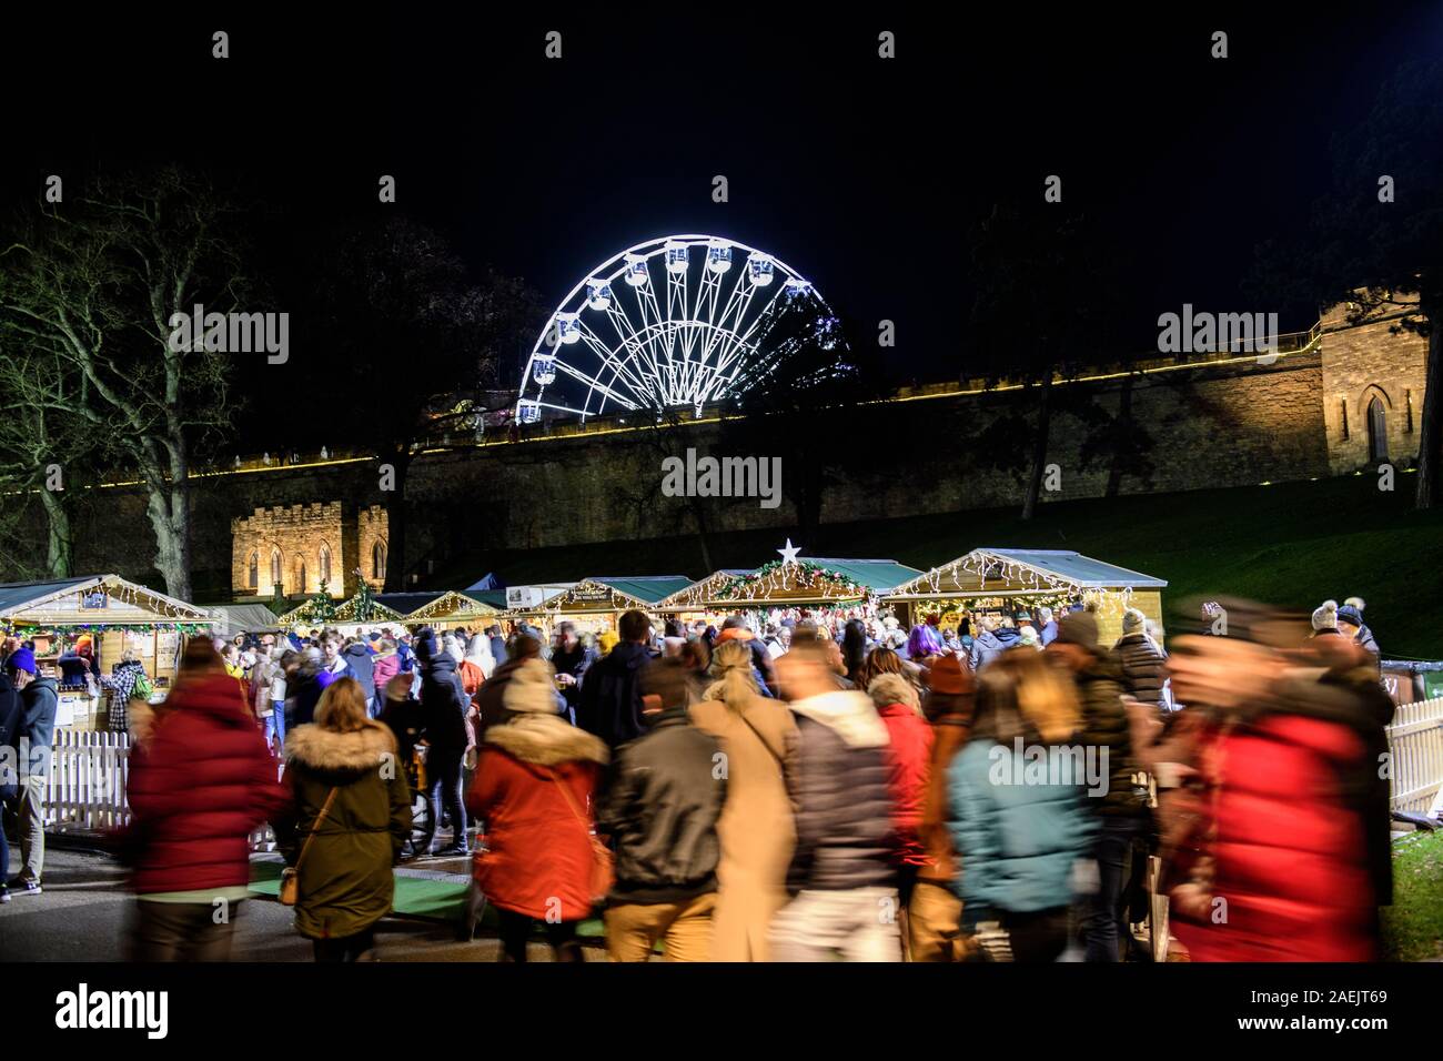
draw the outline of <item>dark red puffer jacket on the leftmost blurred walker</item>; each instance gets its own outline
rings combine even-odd
[[[183,681],[153,719],[131,704],[126,794],[139,895],[250,883],[247,837],[289,800],[235,678]]]

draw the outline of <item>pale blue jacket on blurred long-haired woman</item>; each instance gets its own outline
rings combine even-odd
[[[1025,762],[1016,759],[1012,748],[977,738],[947,771],[948,826],[961,863],[957,891],[968,927],[1000,911],[1071,904],[1072,863],[1091,842],[1094,816],[1082,785],[997,784],[1020,772]]]

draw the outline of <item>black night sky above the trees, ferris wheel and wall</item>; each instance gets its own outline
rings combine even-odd
[[[1283,309],[1284,329],[1306,328],[1310,307],[1241,293],[1254,247],[1300,232],[1332,131],[1398,64],[1443,48],[1440,4],[524,7],[521,22],[476,6],[401,26],[375,9],[330,26],[16,29],[0,43],[0,195],[33,198],[51,172],[182,160],[248,176],[281,205],[277,232],[300,238],[387,209],[377,176],[394,173],[407,211],[548,305],[644,238],[732,235],[843,315],[893,319],[902,375],[947,378],[970,309],[967,232],[999,198],[1040,199],[1048,173],[1136,270],[1118,329],[1136,349],[1183,302]],[[231,32],[225,62],[209,58],[214,29]],[[548,29],[564,35],[560,62],[543,58]],[[893,62],[876,58],[880,29],[898,33]],[[1215,29],[1227,61],[1208,55]],[[710,199],[716,173],[726,205]]]

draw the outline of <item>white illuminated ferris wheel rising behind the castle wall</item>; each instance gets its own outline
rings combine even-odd
[[[784,316],[799,325],[779,329]],[[517,420],[662,410],[734,394],[804,342],[846,349],[821,294],[734,240],[668,235],[593,268],[527,361]]]

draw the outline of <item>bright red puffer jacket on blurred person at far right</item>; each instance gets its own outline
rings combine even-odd
[[[1211,898],[1199,921],[1173,921],[1195,961],[1375,957],[1364,823],[1341,794],[1364,755],[1352,729],[1297,715],[1212,733],[1201,767],[1221,787],[1198,827],[1215,827]]]

